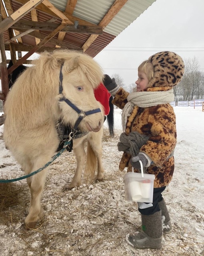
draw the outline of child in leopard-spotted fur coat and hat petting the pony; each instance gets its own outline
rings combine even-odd
[[[176,53],[162,51],[138,67],[136,92],[129,94],[116,84],[114,78],[105,75],[104,85],[114,96],[112,103],[123,109],[125,136],[133,132],[148,136],[139,154],[123,153],[119,169],[127,167],[131,172],[133,166],[134,172],[140,172],[138,161],[141,160],[146,172],[155,175],[153,203],[138,203],[142,230],[126,236],[127,242],[136,248],[161,248],[162,230],[164,233],[172,230],[162,192],[174,172],[176,117],[170,102],[174,100],[173,87],[181,81],[183,74],[182,58]]]

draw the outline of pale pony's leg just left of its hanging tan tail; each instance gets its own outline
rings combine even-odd
[[[77,140],[82,140],[82,138],[79,138]],[[80,186],[81,184],[82,170],[86,160],[86,152],[84,150],[84,146],[85,146],[85,141],[83,140],[80,144],[77,143],[77,145],[73,147],[77,164],[76,164],[76,171],[75,171],[74,177],[72,178],[72,181],[68,185],[68,189],[72,189],[76,186]]]

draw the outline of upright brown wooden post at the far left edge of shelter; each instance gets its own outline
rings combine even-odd
[[[0,13],[1,13],[1,5],[0,5]],[[2,22],[2,15],[0,15],[0,23]],[[0,99],[3,100],[3,104],[6,100],[6,96],[8,94],[8,73],[7,73],[7,65],[6,65],[6,53],[4,46],[4,36],[0,35],[0,72],[1,72],[1,84],[2,84],[2,93],[0,94]]]

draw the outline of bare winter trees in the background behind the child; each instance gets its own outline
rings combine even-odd
[[[181,82],[177,86],[174,86],[174,101],[204,99],[204,72],[200,71],[198,59],[196,57],[184,59],[184,63],[184,76]],[[135,82],[126,85],[124,79],[119,74],[113,74],[112,77],[127,92],[132,92],[136,87]]]

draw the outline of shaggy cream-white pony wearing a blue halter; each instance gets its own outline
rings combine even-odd
[[[98,165],[98,180],[103,179],[102,167],[103,108],[94,97],[94,88],[102,82],[102,69],[91,57],[76,51],[57,50],[45,52],[32,61],[16,80],[8,93],[4,106],[4,141],[25,174],[30,174],[44,166],[55,154],[60,139],[56,121],[65,125],[77,126],[88,135],[74,140],[76,173],[69,188],[80,184],[82,168],[86,160],[85,140],[88,140],[87,168],[94,172]],[[61,89],[59,84],[61,80]],[[71,102],[84,115],[83,118],[68,102]],[[79,121],[80,123],[77,123]],[[90,158],[91,157],[91,160]],[[92,167],[90,166],[92,165]],[[31,200],[26,227],[35,227],[42,216],[40,199],[48,167],[27,178]],[[93,174],[92,174],[93,175]]]

